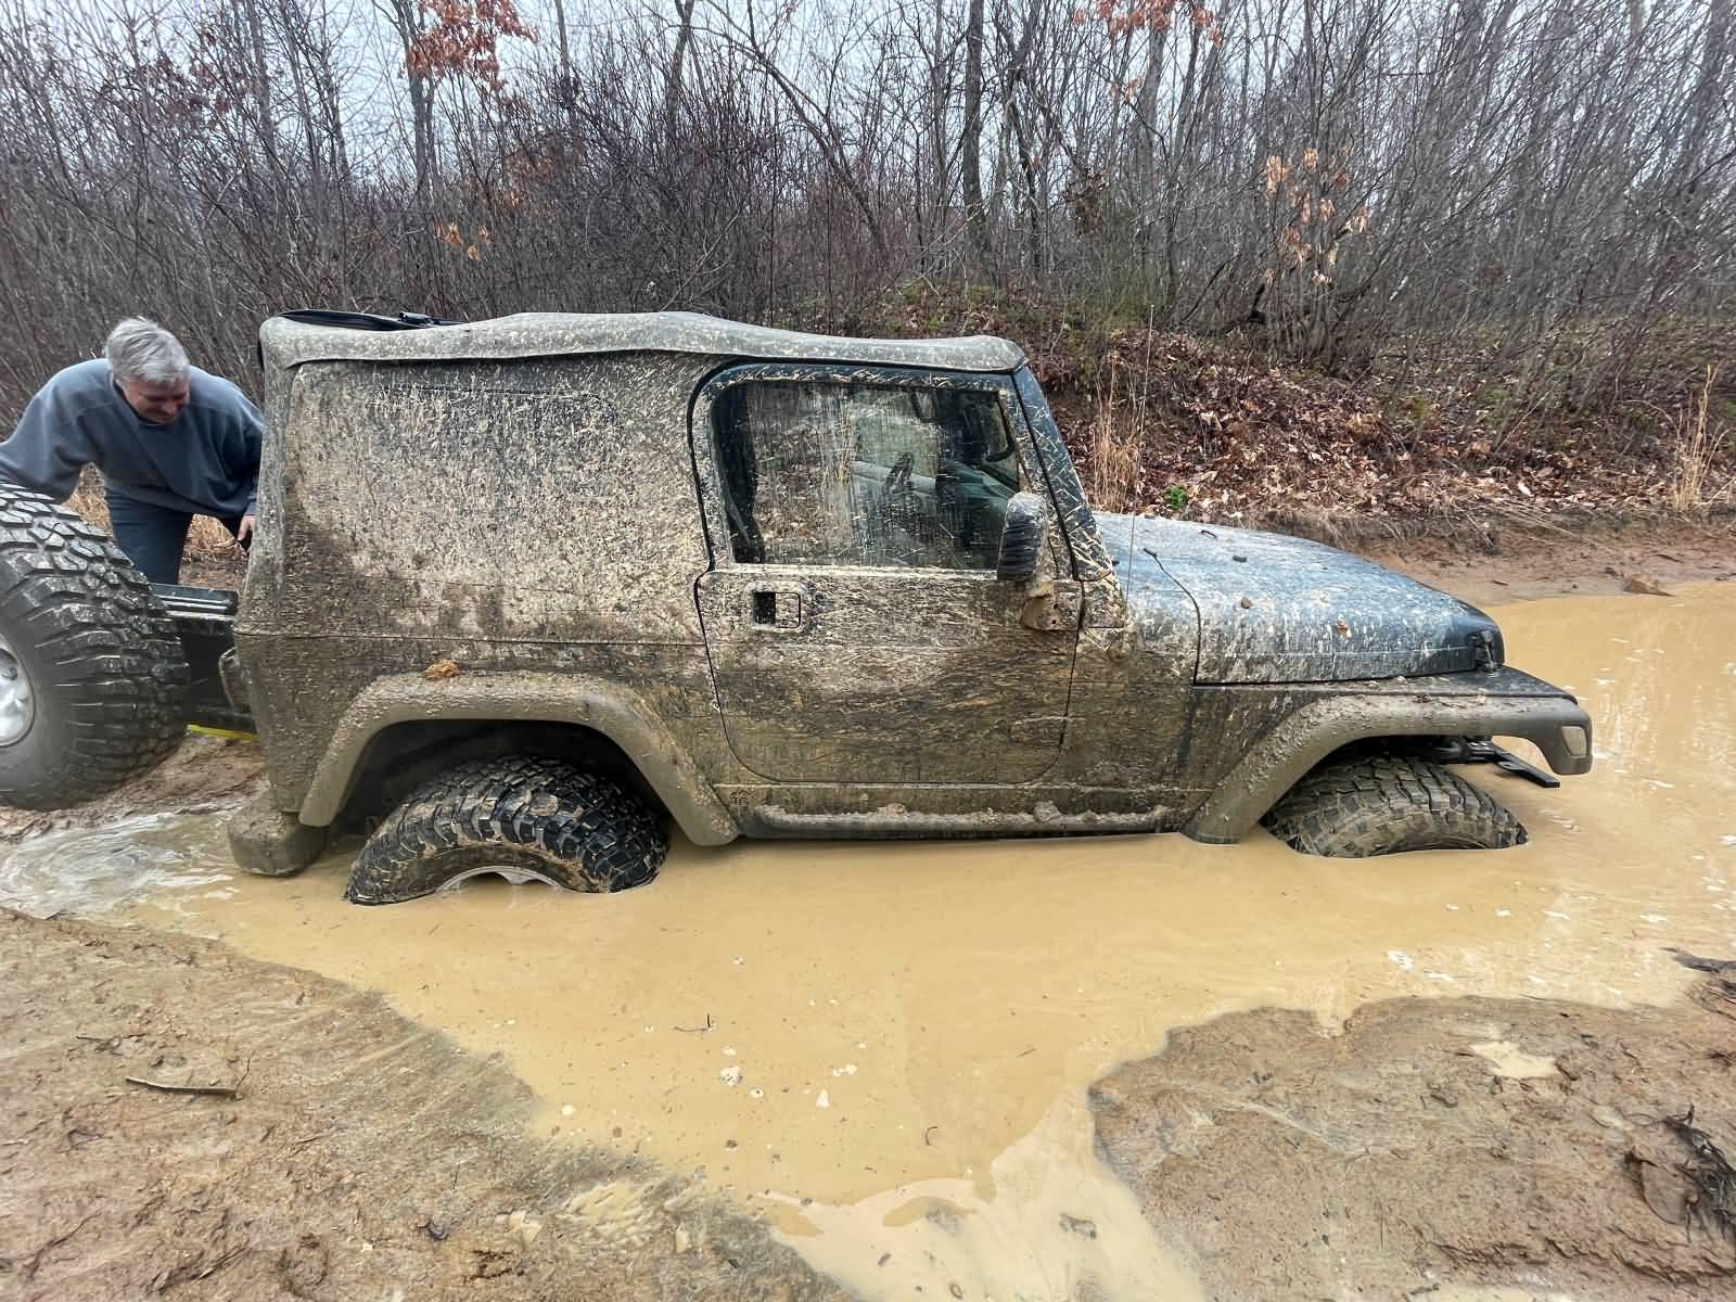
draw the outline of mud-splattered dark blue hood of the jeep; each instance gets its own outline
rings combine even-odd
[[[1135,625],[1180,589],[1196,682],[1340,682],[1500,665],[1495,621],[1333,547],[1278,533],[1097,514]]]

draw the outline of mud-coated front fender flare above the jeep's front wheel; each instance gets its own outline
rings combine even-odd
[[[1288,715],[1224,774],[1182,832],[1208,845],[1236,842],[1326,755],[1382,736],[1519,736],[1555,773],[1592,767],[1592,719],[1571,696],[1326,696]]]

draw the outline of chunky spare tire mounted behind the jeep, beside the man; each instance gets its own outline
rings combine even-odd
[[[187,658],[144,575],[101,529],[0,484],[0,639],[33,717],[0,745],[0,804],[64,809],[167,759]],[[10,682],[12,679],[9,679]]]

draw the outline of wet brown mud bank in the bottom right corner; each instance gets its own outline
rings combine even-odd
[[[1736,963],[1661,1009],[1231,1014],[1090,1106],[1208,1299],[1736,1297],[1733,1050]]]

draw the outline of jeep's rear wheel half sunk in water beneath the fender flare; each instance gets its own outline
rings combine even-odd
[[[561,760],[472,760],[424,783],[356,856],[347,896],[396,904],[479,873],[625,891],[668,854],[663,819],[618,783]]]

